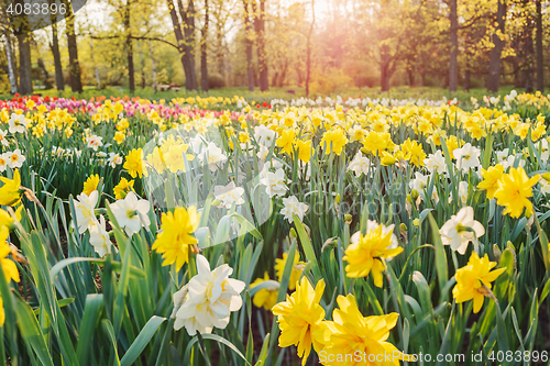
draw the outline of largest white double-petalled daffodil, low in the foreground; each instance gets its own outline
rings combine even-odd
[[[231,312],[242,307],[240,293],[245,286],[243,281],[229,278],[233,268],[227,264],[210,270],[210,264],[200,254],[197,255],[197,273],[174,293],[174,329],[185,326],[190,336],[197,331],[211,333],[215,326],[226,329]]]

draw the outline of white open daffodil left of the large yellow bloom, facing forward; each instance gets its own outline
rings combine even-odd
[[[124,199],[109,204],[120,228],[124,228],[129,236],[139,232],[142,226],[150,225],[151,221],[147,217],[150,207],[147,200],[138,199],[133,191],[128,192]]]

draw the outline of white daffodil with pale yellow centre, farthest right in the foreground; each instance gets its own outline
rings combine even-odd
[[[474,220],[474,209],[465,207],[452,215],[439,233],[443,245],[450,245],[453,251],[464,254],[470,242],[477,247],[477,239],[485,234],[485,228]]]

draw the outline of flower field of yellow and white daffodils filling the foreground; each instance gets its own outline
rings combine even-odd
[[[548,98],[0,101],[0,357],[546,365]]]

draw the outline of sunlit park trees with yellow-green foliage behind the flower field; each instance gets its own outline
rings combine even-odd
[[[3,92],[550,82],[541,0],[89,0],[28,35],[0,4]]]

